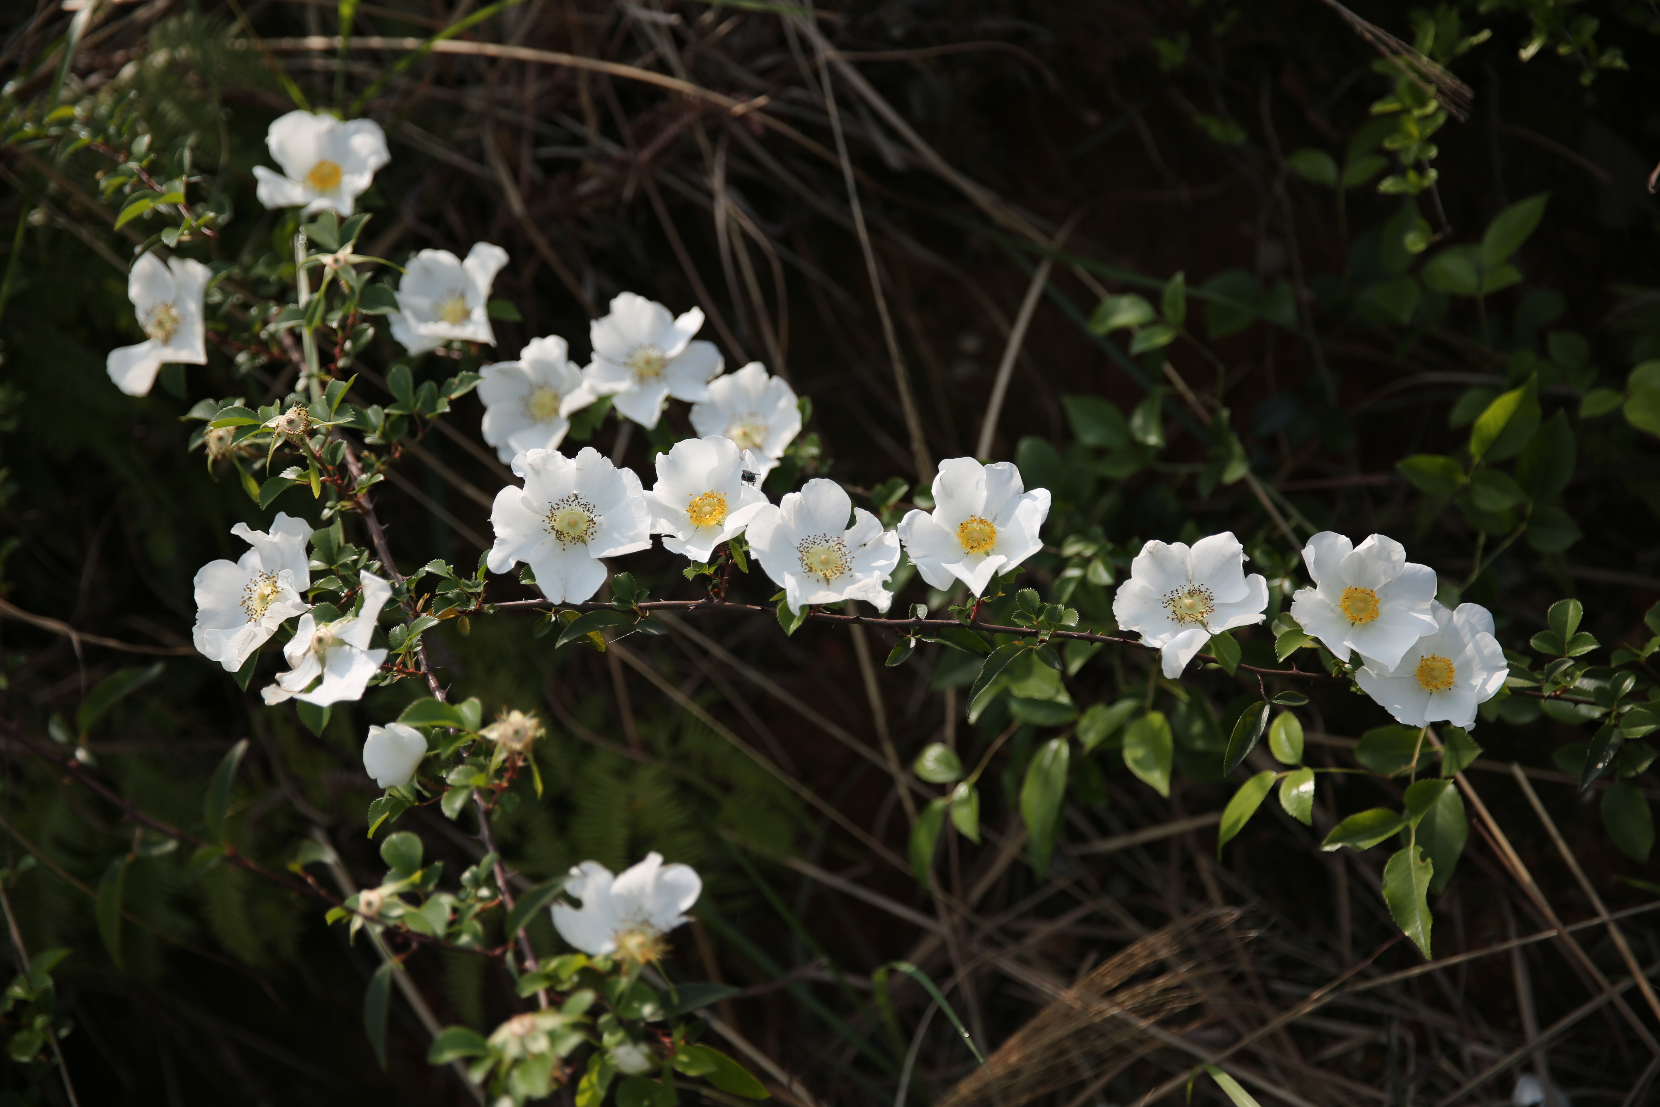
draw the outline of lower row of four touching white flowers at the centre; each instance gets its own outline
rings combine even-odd
[[[883,529],[825,478],[774,505],[759,488],[757,463],[752,450],[725,435],[687,438],[657,455],[657,483],[646,491],[632,470],[619,470],[598,450],[574,458],[530,450],[513,458],[523,488],[496,493],[490,569],[508,573],[525,563],[549,601],[576,604],[604,584],[601,558],[646,549],[652,534],[694,561],[745,534],[790,611],[848,599],[886,611],[893,593],[883,586],[900,564],[901,543],[930,584],[950,588],[959,579],[974,596],[1042,548],[1038,531],[1049,514],[1049,491],[1026,491],[1008,461],[943,461],[933,513],[913,510],[896,531]]]

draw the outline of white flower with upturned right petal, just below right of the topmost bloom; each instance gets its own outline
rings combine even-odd
[[[490,285],[508,264],[508,252],[473,242],[461,261],[450,251],[422,251],[398,280],[398,310],[387,315],[392,337],[410,354],[437,350],[445,342],[496,344],[490,327]]]

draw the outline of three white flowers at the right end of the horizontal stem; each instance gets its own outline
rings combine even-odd
[[[1509,669],[1492,614],[1479,604],[1441,606],[1434,569],[1409,563],[1401,543],[1373,534],[1355,546],[1321,531],[1303,563],[1315,584],[1291,597],[1291,619],[1340,661],[1358,654],[1355,680],[1399,722],[1471,727],[1477,704],[1504,687]],[[1147,543],[1112,599],[1119,626],[1160,651],[1170,679],[1210,636],[1262,622],[1267,607],[1268,583],[1245,576],[1245,549],[1232,533],[1192,548]]]

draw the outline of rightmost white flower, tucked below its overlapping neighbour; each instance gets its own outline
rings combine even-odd
[[[1497,695],[1511,672],[1492,636],[1492,612],[1481,604],[1452,611],[1438,602],[1434,617],[1436,631],[1408,646],[1398,666],[1368,661],[1355,680],[1408,727],[1474,727],[1476,704]]]

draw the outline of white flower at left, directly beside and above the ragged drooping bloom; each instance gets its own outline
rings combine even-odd
[[[196,571],[196,626],[191,642],[226,672],[239,671],[286,619],[310,604],[300,596],[310,588],[305,519],[277,511],[271,531],[237,523],[231,533],[252,549],[237,561],[209,561]]]

